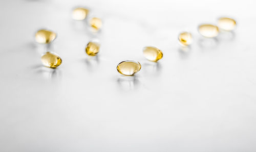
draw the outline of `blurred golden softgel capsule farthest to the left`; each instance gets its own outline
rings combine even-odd
[[[38,30],[35,34],[35,40],[38,43],[51,43],[56,38],[56,33],[48,30]]]

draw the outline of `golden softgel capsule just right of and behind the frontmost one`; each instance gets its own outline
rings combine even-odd
[[[146,46],[143,48],[143,55],[147,60],[157,62],[162,59],[163,53],[160,49],[153,46]]]

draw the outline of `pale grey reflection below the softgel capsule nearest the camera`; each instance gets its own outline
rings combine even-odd
[[[121,90],[135,90],[138,89],[140,85],[140,81],[136,75],[120,75],[116,82]]]

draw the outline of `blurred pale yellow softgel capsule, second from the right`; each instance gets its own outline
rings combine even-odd
[[[201,24],[198,32],[204,37],[214,38],[219,35],[219,28],[212,24]]]

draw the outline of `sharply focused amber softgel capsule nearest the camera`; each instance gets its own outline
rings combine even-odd
[[[141,65],[137,61],[127,60],[120,62],[116,68],[123,75],[134,75],[141,69]]]

